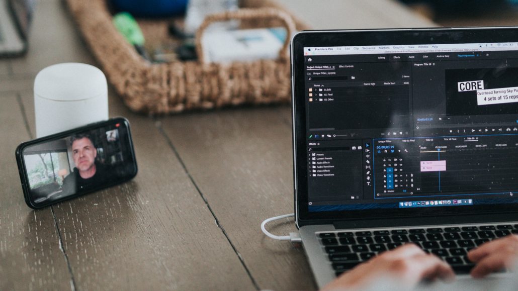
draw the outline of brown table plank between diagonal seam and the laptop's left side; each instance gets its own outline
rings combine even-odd
[[[302,249],[266,238],[260,224],[293,212],[290,108],[193,113],[162,126],[262,289],[312,289]],[[272,223],[277,234],[293,220]],[[277,226],[277,227],[276,227]]]

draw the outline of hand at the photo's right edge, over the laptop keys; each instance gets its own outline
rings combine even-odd
[[[513,267],[518,259],[518,236],[512,235],[486,242],[468,253],[468,258],[476,266],[471,270],[473,278]]]

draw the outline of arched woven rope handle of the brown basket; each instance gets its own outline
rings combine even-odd
[[[207,17],[205,17],[205,20],[203,21],[202,25],[199,26],[198,31],[196,32],[195,39],[196,54],[198,55],[199,62],[205,62],[202,48],[202,36],[210,24],[214,22],[244,19],[280,20],[286,28],[286,39],[284,40],[282,48],[279,51],[279,58],[281,59],[284,56],[288,46],[290,45],[290,38],[293,35],[293,32],[295,31],[295,23],[293,22],[290,14],[275,8],[241,8],[234,11],[210,14]]]

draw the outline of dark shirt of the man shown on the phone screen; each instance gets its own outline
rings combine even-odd
[[[94,176],[88,179],[81,178],[78,168],[74,168],[74,171],[63,180],[63,192],[66,195],[71,195],[91,190],[92,188],[105,184],[109,180],[108,176],[109,172],[106,166],[98,163],[95,163]]]

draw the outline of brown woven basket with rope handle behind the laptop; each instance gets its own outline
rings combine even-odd
[[[196,34],[197,61],[151,64],[118,33],[104,0],[67,0],[84,39],[109,82],[133,111],[177,113],[243,104],[289,103],[290,60],[286,38],[277,60],[204,63],[200,39],[213,22],[237,19],[241,26],[284,26],[287,35],[306,27],[269,1],[248,0],[237,11],[208,16]],[[296,24],[295,24],[296,23]],[[166,20],[139,21],[146,41],[167,35]]]

